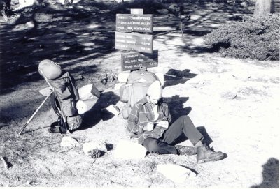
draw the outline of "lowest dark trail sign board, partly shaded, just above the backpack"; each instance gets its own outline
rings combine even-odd
[[[127,52],[122,54],[122,71],[137,70],[141,66],[147,68],[158,66],[158,50],[153,54]]]

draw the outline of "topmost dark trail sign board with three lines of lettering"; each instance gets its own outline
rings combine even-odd
[[[126,32],[153,32],[153,15],[117,14],[116,30]]]

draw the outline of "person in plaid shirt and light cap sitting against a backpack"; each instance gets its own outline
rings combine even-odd
[[[221,160],[225,153],[215,152],[203,144],[203,135],[189,116],[181,116],[170,125],[172,117],[166,103],[162,101],[162,86],[153,82],[147,95],[133,107],[127,120],[127,130],[137,134],[139,144],[145,146],[149,153],[195,155],[197,162]],[[190,139],[193,146],[176,145],[182,140]]]

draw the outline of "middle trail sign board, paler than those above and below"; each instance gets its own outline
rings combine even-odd
[[[135,50],[153,53],[153,35],[116,32],[117,50]]]

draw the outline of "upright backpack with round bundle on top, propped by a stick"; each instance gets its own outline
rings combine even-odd
[[[53,89],[50,101],[52,109],[58,115],[58,120],[52,123],[50,132],[66,133],[68,129],[79,128],[83,119],[76,108],[79,95],[76,81],[72,75],[61,70],[59,64],[50,60],[41,61],[38,70]]]

